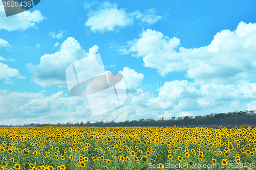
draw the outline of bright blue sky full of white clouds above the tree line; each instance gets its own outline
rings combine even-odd
[[[42,0],[6,17],[0,4],[0,124],[255,110],[255,5]],[[98,53],[105,70],[124,76],[129,95],[93,116],[86,98],[69,94],[65,70]]]

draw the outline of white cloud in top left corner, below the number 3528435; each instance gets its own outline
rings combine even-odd
[[[6,16],[2,1],[0,3],[0,15]],[[35,23],[39,23],[44,19],[47,18],[43,17],[41,12],[38,10],[33,12],[24,11],[16,14],[15,16],[0,17],[0,30],[25,31],[29,28],[38,29]]]

